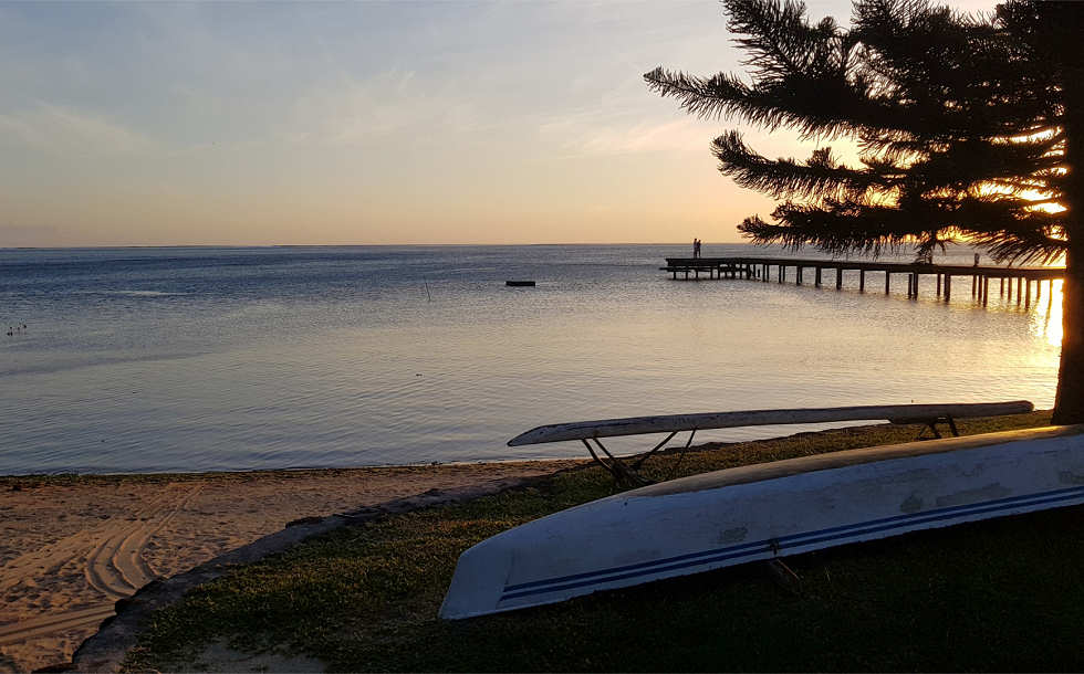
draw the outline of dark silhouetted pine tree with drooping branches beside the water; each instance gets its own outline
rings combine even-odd
[[[1084,422],[1084,3],[1010,0],[963,14],[925,0],[857,0],[851,27],[794,0],[725,0],[751,82],[661,67],[645,75],[688,113],[821,147],[769,159],[741,134],[712,143],[719,170],[782,200],[747,218],[757,243],[843,254],[915,243],[986,248],[998,262],[1065,255],[1055,423]],[[857,165],[832,141],[848,140]]]

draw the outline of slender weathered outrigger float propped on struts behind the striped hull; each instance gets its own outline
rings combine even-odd
[[[702,414],[665,414],[658,417],[627,417],[601,421],[573,421],[540,425],[520,433],[508,441],[509,446],[613,438],[643,433],[669,433],[674,431],[700,431],[730,429],[747,425],[774,425],[785,423],[828,423],[834,421],[887,420],[894,423],[915,423],[951,417],[997,417],[1024,414],[1034,409],[1026,400],[1010,402],[976,402],[956,404],[867,404],[846,408],[803,408],[793,410],[747,410],[742,412],[709,412]]]

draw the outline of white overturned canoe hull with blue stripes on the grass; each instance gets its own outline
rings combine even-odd
[[[1084,503],[1084,425],[790,459],[642,487],[460,556],[441,618]]]

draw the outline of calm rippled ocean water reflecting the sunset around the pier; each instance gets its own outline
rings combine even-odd
[[[991,285],[983,308],[966,283],[938,302],[931,277],[911,301],[901,276],[886,296],[879,275],[859,294],[850,275],[836,291],[834,274],[815,288],[658,271],[689,251],[0,250],[0,474],[581,456],[579,443],[505,442],[544,423],[642,414],[1053,404],[1057,284],[1053,302],[1044,286],[1026,309]],[[780,253],[705,244],[705,256],[728,254]],[[538,285],[505,287],[513,278]]]

